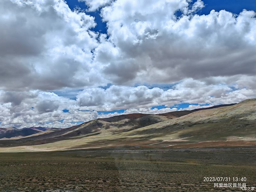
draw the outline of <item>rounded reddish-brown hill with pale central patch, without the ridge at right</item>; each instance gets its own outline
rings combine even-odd
[[[81,137],[87,134],[97,133],[99,131],[108,130],[110,134],[126,132],[137,129],[145,125],[155,124],[160,121],[166,121],[171,117],[162,115],[146,115],[146,114],[128,114],[122,116],[114,116],[105,119],[96,119],[78,126],[66,129],[60,129],[54,132],[45,131],[43,134],[30,135],[30,137],[21,140],[47,140],[47,139],[63,139],[72,137]],[[174,116],[172,117],[174,118]]]

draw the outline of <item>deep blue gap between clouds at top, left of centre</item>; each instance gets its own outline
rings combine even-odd
[[[107,26],[106,22],[102,22],[101,18],[101,9],[95,11],[95,12],[87,12],[86,9],[88,8],[85,4],[85,2],[79,2],[78,0],[66,0],[68,7],[73,10],[76,7],[80,7],[83,12],[85,12],[87,15],[91,15],[95,17],[95,22],[97,23],[96,27],[92,28],[91,30],[94,32],[100,32],[100,33],[107,33]]]

